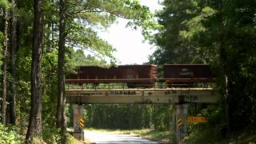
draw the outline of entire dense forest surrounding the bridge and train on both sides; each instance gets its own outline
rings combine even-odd
[[[192,143],[255,142],[256,1],[161,5],[151,14],[136,0],[0,0],[0,143],[66,141],[73,112],[65,75],[75,66],[115,64],[115,49],[98,30],[117,18],[141,27],[157,47],[146,63],[208,63],[216,72],[218,103],[190,105],[190,114],[208,120],[190,126]],[[85,119],[86,127],[172,130],[172,106],[86,105]]]

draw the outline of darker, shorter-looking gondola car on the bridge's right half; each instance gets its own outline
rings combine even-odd
[[[164,79],[169,86],[188,86],[214,81],[214,74],[207,64],[166,64]]]

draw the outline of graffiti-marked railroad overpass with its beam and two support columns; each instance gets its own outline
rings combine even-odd
[[[65,93],[66,102],[74,104],[74,137],[78,139],[83,139],[83,104],[172,104],[173,139],[178,143],[187,134],[188,104],[218,101],[218,90],[212,88],[68,89]]]

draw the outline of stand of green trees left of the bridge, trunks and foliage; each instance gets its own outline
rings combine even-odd
[[[98,31],[117,18],[145,36],[158,26],[134,0],[1,0],[0,17],[0,143],[66,141],[66,74],[116,62]]]

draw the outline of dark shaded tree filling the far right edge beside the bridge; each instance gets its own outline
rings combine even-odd
[[[213,55],[213,63],[218,68],[222,110],[226,117],[226,135],[241,130],[245,125],[237,125],[244,122],[240,119],[254,114],[252,111],[255,102],[251,95],[254,95],[255,91],[250,89],[255,86],[255,77],[249,75],[252,74],[251,64],[255,63],[254,59],[251,59],[255,54],[255,42],[249,42],[248,38],[256,37],[255,7],[254,1],[209,2],[201,14],[202,26],[205,29],[195,35],[198,43]],[[241,102],[246,102],[250,106],[241,106]],[[250,121],[246,122],[246,125],[255,124]]]

